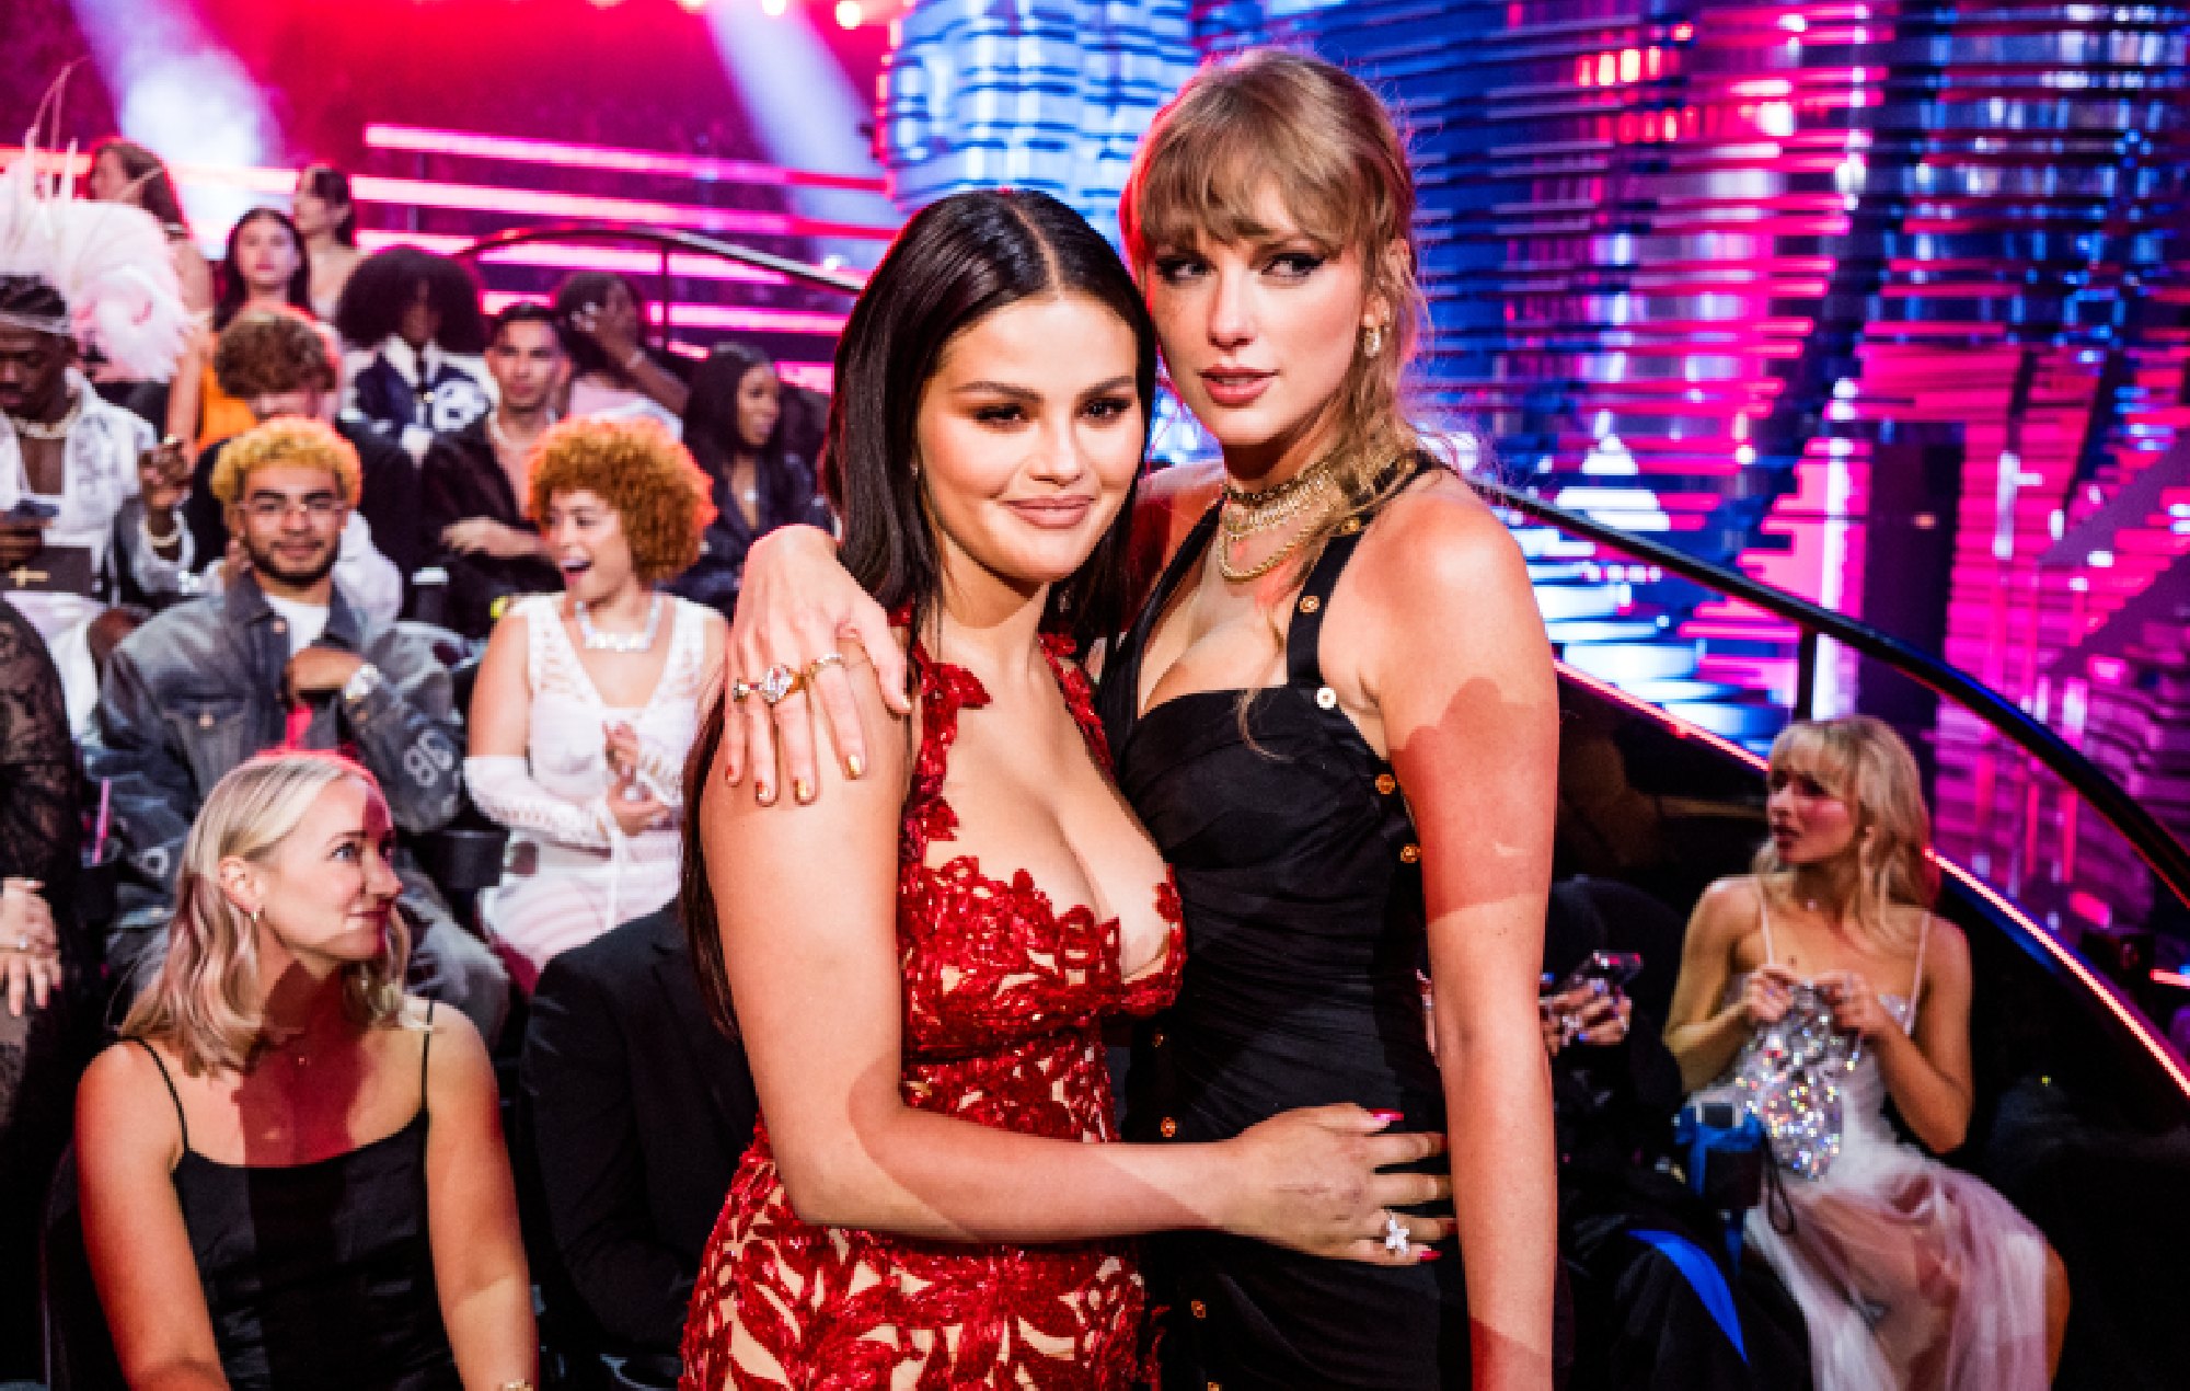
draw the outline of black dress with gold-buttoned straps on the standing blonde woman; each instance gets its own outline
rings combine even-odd
[[[1255,694],[1246,734],[1235,690],[1134,714],[1150,629],[1215,524],[1211,508],[1180,545],[1099,692],[1119,786],[1178,876],[1187,929],[1178,1001],[1134,1043],[1126,1137],[1226,1139],[1327,1102],[1443,1130],[1415,984],[1421,848],[1391,765],[1338,710],[1316,659],[1360,528],[1332,539],[1294,598],[1286,683]],[[1163,1384],[1465,1387],[1461,1262],[1452,1242],[1441,1255],[1384,1268],[1231,1235],[1156,1238]]]

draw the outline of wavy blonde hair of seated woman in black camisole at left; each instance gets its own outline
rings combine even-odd
[[[175,874],[175,918],[166,964],[129,1016],[123,1038],[162,1038],[186,1073],[241,1071],[261,1045],[258,933],[221,892],[221,861],[265,863],[311,804],[335,782],[357,778],[379,795],[379,782],[339,754],[261,754],[217,784],[191,824]],[[342,1003],[366,1027],[403,1023],[403,966],[410,931],[388,916],[388,938],[370,962],[342,968]]]

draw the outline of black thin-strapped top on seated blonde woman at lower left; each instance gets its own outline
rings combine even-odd
[[[431,1014],[427,1014],[431,1025]],[[134,1041],[182,1097],[166,1062]],[[418,1113],[394,1135],[296,1165],[215,1163],[182,1128],[175,1198],[234,1391],[462,1391],[434,1288]]]

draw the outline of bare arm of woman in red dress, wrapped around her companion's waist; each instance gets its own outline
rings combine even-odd
[[[904,1104],[896,865],[909,749],[867,670],[852,690],[878,732],[865,778],[826,760],[830,784],[810,806],[764,808],[712,786],[699,808],[731,997],[793,1209],[946,1242],[1222,1227],[1391,1264],[1382,1209],[1443,1185],[1369,1170],[1437,1143],[1373,1135],[1382,1122],[1353,1106],[1292,1113],[1222,1143],[1123,1146]],[[830,872],[812,874],[815,863]]]

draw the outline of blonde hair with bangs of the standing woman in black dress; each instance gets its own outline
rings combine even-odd
[[[1397,488],[1393,464],[1424,449],[1404,383],[1428,320],[1415,278],[1415,175],[1404,134],[1358,77],[1279,48],[1202,68],[1156,112],[1117,204],[1128,263],[1145,285],[1167,248],[1266,237],[1270,228],[1257,217],[1264,191],[1277,193],[1325,254],[1351,250],[1369,296],[1391,304],[1378,355],[1353,340],[1332,456],[1347,504],[1301,543],[1299,583],[1349,517]]]

